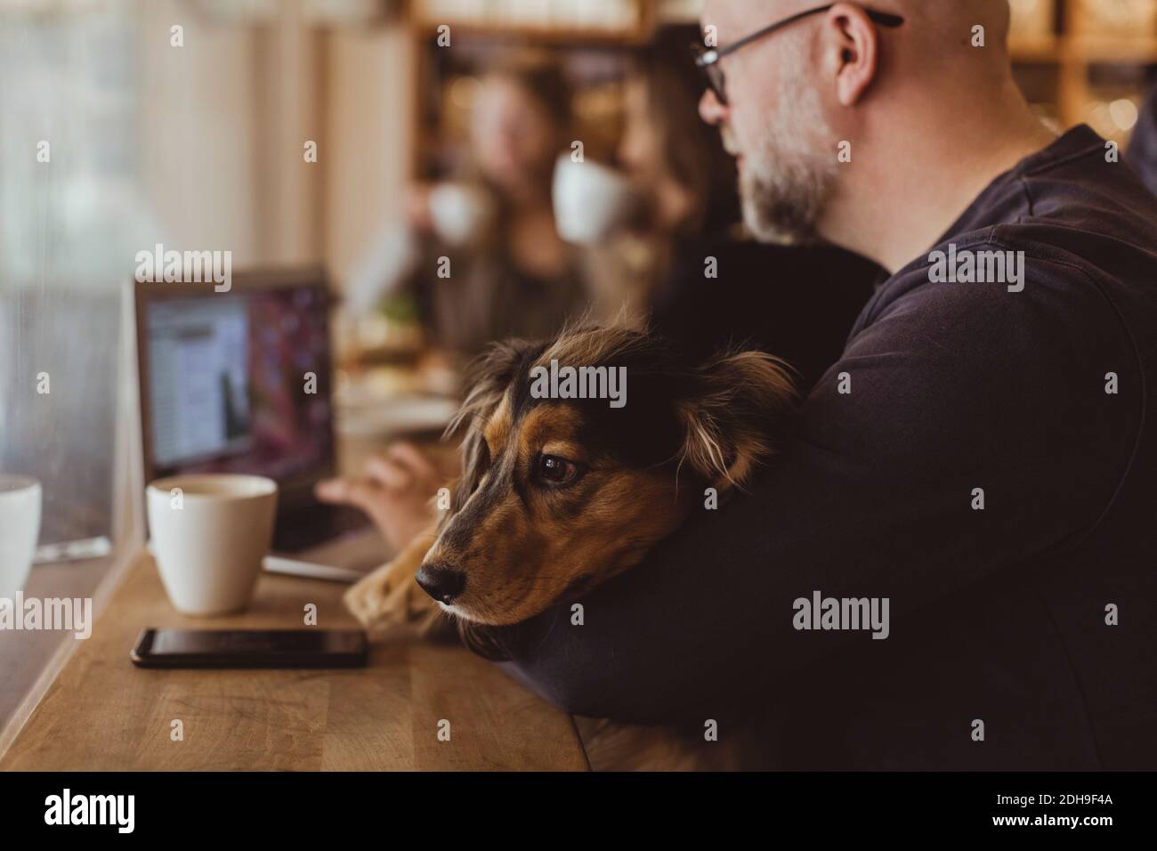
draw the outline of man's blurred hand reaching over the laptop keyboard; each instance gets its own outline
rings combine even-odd
[[[442,474],[417,447],[395,443],[371,457],[363,475],[319,482],[315,493],[323,502],[361,508],[385,540],[400,549],[430,524],[430,500],[444,484]]]

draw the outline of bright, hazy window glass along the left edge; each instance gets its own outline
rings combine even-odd
[[[130,6],[0,9],[0,470],[40,480],[42,544],[112,537],[142,210]]]

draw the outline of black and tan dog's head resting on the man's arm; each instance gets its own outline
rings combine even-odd
[[[706,487],[742,486],[794,398],[766,354],[688,365],[620,327],[495,345],[471,384],[451,425],[466,430],[463,479],[418,581],[443,610],[486,625],[525,621],[636,564]],[[580,388],[604,397],[562,397]]]

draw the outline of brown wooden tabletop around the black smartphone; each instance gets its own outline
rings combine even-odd
[[[304,628],[304,607],[316,603],[317,629],[352,628],[345,588],[264,573],[249,611],[186,617],[141,553],[0,769],[588,768],[568,714],[462,647],[405,633],[376,641],[358,670],[159,670],[128,660],[146,626]],[[442,720],[450,741],[439,740]]]

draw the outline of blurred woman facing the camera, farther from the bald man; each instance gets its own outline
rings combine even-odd
[[[407,227],[379,235],[351,279],[355,309],[406,287],[430,342],[462,354],[504,337],[550,336],[580,313],[580,264],[559,239],[551,206],[570,100],[560,66],[538,54],[487,69],[463,174],[411,189]]]

